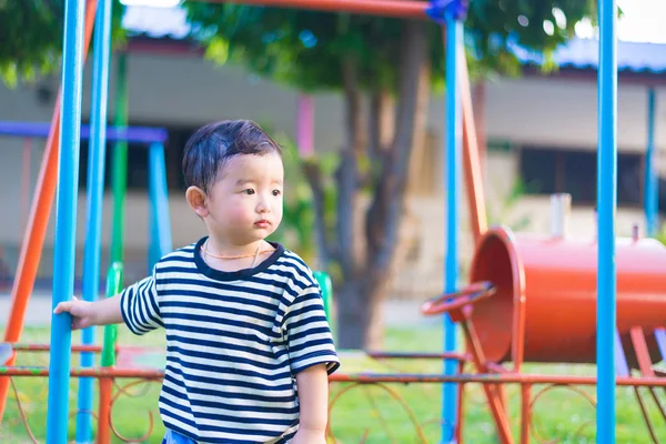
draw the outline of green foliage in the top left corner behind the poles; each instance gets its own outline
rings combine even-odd
[[[115,43],[124,37],[120,26],[123,10],[114,0]],[[0,0],[0,79],[8,87],[60,69],[63,22],[64,0]]]

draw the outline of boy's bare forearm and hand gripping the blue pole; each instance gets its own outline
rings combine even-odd
[[[120,295],[105,297],[97,302],[80,301],[74,297],[71,301],[61,302],[56,306],[53,313],[70,313],[72,316],[72,329],[87,329],[91,325],[119,324],[122,322],[120,313]]]

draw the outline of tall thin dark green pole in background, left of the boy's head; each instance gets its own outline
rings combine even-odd
[[[127,54],[118,54],[115,81],[115,127],[128,125]],[[111,263],[123,262],[124,199],[128,189],[128,143],[115,142],[112,159],[113,233],[111,236]]]

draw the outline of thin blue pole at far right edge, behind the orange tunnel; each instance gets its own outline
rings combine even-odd
[[[655,160],[655,89],[647,92],[647,153],[645,154],[645,222],[647,235],[657,234],[659,188]]]

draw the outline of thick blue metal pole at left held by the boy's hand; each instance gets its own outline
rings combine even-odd
[[[69,301],[74,291],[84,13],[84,1],[67,0],[64,3],[62,101],[60,108],[62,119],[60,122],[56,245],[53,253],[53,309],[60,302]],[[51,316],[47,444],[67,442],[72,345],[71,322],[71,316],[65,313]]]

